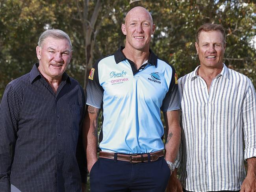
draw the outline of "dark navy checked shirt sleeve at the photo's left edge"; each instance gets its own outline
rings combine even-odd
[[[9,84],[0,104],[0,191],[10,191],[11,165],[17,139],[19,98]]]

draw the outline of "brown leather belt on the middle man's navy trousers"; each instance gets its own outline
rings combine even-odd
[[[141,155],[135,154],[135,155],[123,155],[116,153],[117,160],[120,161],[129,161],[130,163],[138,163],[138,162],[147,162],[147,161],[156,161],[159,157],[163,156],[163,151],[156,151],[153,153],[144,153]],[[149,157],[148,157],[149,156]],[[106,159],[115,159],[115,153],[108,153],[104,151],[100,151],[100,156],[102,158]]]

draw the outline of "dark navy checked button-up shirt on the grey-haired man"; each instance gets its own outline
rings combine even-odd
[[[0,191],[80,192],[84,92],[64,73],[55,94],[38,66],[10,82],[0,104]]]

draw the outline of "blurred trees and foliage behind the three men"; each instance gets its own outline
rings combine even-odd
[[[6,85],[37,62],[38,37],[53,28],[69,34],[73,56],[67,73],[85,88],[96,59],[125,44],[121,24],[135,6],[152,14],[157,27],[151,49],[179,77],[199,65],[195,33],[211,22],[226,29],[224,63],[256,87],[255,0],[0,0],[0,100]]]

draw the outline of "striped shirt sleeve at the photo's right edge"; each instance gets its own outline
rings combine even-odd
[[[256,157],[256,93],[251,81],[243,101],[243,125],[244,158]]]

